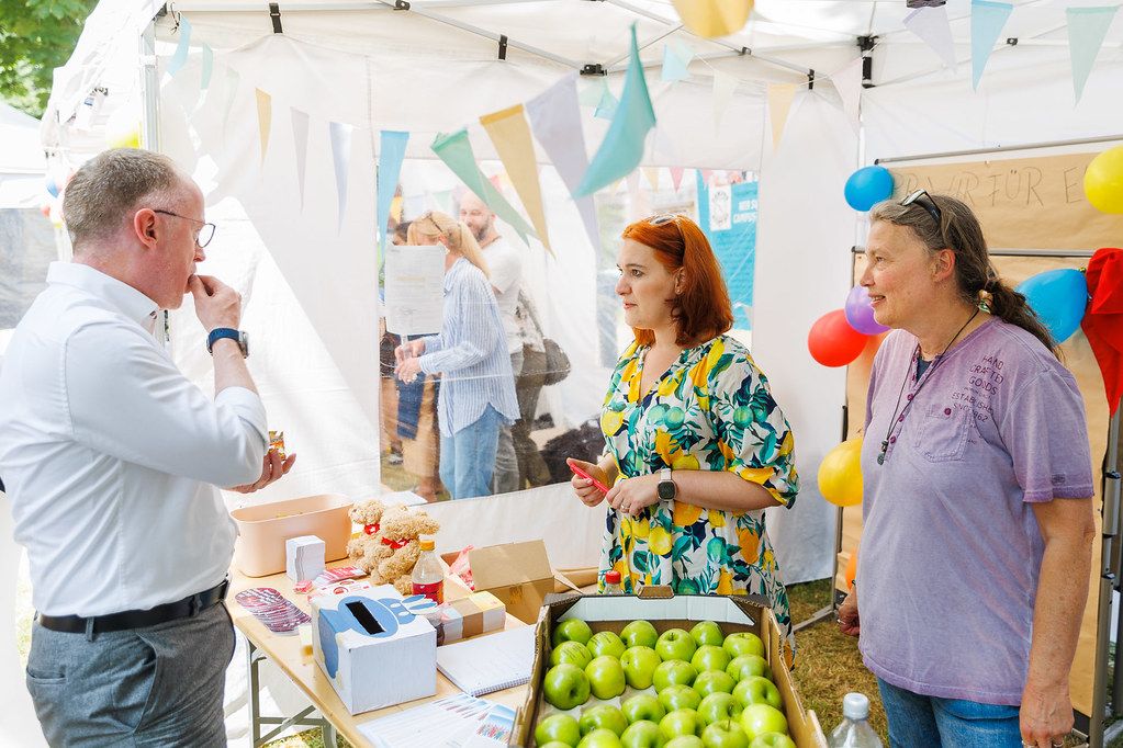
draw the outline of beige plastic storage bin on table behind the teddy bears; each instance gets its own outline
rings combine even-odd
[[[285,570],[284,542],[314,535],[325,545],[325,561],[347,555],[351,500],[340,493],[258,504],[230,512],[238,523],[234,562],[246,576],[266,576]]]

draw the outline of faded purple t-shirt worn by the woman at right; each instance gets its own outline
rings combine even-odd
[[[859,646],[898,687],[1015,705],[1044,548],[1029,502],[1093,496],[1084,400],[1037,339],[997,317],[919,381],[917,350],[892,332],[869,378]]]

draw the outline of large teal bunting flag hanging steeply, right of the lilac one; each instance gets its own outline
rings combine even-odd
[[[645,137],[647,131],[655,127],[655,110],[651,108],[647,82],[643,80],[643,65],[639,59],[634,24],[631,37],[631,59],[628,63],[620,107],[574,197],[591,195],[639,166],[643,158]]]

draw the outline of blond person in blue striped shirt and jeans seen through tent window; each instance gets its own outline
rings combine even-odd
[[[454,499],[490,496],[500,424],[519,417],[499,304],[472,231],[444,213],[410,224],[409,243],[445,250],[440,334],[399,345],[396,373],[440,373],[440,480]]]

